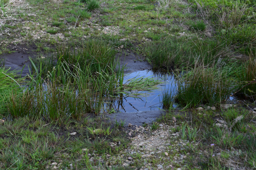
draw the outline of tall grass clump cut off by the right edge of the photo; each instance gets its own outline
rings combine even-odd
[[[256,99],[256,59],[250,58],[238,73],[238,81],[241,83],[236,96],[244,99]]]

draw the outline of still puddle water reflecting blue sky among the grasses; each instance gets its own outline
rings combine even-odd
[[[136,71],[131,74],[125,75],[125,80],[136,77],[149,77],[155,78],[162,83],[157,87],[158,89],[152,90],[151,92],[142,91],[141,94],[145,95],[140,98],[134,98],[129,96],[121,96],[118,100],[108,101],[105,104],[105,109],[112,106],[117,112],[142,112],[142,111],[157,111],[162,109],[162,93],[170,88],[175,88],[174,76],[169,74],[167,71],[159,70],[144,70]],[[110,104],[111,103],[111,104]]]

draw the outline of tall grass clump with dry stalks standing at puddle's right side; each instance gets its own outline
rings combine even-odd
[[[176,100],[182,105],[195,107],[198,104],[215,105],[225,100],[233,91],[227,78],[228,69],[215,64],[208,67],[195,61],[195,67],[177,80]]]

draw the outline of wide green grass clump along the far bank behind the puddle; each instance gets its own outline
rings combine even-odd
[[[170,37],[161,42],[145,43],[142,54],[146,56],[148,62],[154,64],[154,67],[173,69],[194,66],[194,56],[207,65],[217,60],[219,56],[228,58],[232,52],[230,46],[225,46],[218,40]]]

